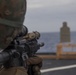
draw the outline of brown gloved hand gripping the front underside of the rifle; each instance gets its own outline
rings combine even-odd
[[[33,75],[41,75],[42,59],[40,57],[31,57],[27,60],[28,66],[32,66]]]

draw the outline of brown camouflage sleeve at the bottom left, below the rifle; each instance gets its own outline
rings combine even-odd
[[[8,69],[2,69],[0,75],[28,75],[27,70],[23,67],[12,67]]]

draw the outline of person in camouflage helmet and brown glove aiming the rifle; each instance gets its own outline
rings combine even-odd
[[[21,32],[26,7],[26,0],[0,0],[0,51],[6,49]],[[42,59],[40,57],[30,57],[27,64],[28,66],[33,65],[34,75],[41,75]],[[28,69],[23,66],[11,66],[10,68],[1,68],[0,75],[30,74]]]

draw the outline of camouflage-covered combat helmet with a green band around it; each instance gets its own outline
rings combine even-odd
[[[21,32],[26,0],[0,0],[0,48],[5,49]]]

